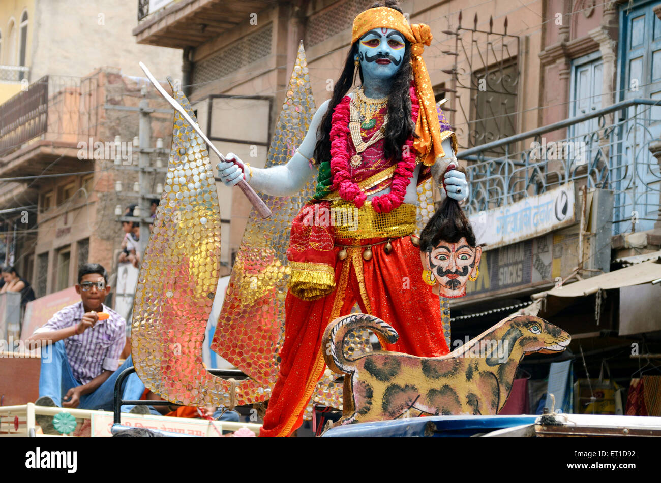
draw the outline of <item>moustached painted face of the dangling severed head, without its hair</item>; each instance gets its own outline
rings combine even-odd
[[[446,298],[463,297],[466,283],[475,280],[482,257],[482,247],[471,247],[465,238],[457,243],[440,241],[431,250],[420,253],[422,267],[428,283],[434,284],[433,292]]]

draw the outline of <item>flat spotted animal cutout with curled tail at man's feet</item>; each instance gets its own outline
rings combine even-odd
[[[446,356],[375,351],[348,359],[344,336],[370,329],[393,344],[393,327],[365,313],[332,321],[323,335],[326,364],[344,377],[339,424],[402,416],[498,414],[526,354],[563,352],[568,333],[533,315],[512,315]]]

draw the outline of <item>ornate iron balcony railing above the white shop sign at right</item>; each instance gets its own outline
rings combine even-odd
[[[557,139],[561,129],[566,136]],[[472,162],[467,212],[582,181],[613,191],[615,234],[648,230],[659,218],[661,172],[652,152],[661,149],[660,133],[661,100],[636,98],[463,150],[457,157]],[[494,151],[504,155],[486,155]]]

